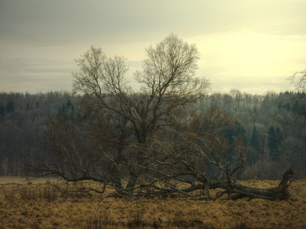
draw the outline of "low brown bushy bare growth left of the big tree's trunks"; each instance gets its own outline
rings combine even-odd
[[[114,164],[103,152],[103,148],[99,147],[97,138],[91,137],[92,133],[87,131],[85,124],[65,114],[49,116],[39,139],[46,153],[37,155],[30,165],[27,164],[35,177],[55,175],[59,177],[58,182],[50,184],[74,195],[91,196],[90,191],[103,193],[110,180],[115,185],[116,177],[112,173]],[[103,137],[100,135],[100,141],[105,139],[106,134],[104,132]],[[103,141],[103,144],[108,144],[111,150],[109,143]],[[82,181],[86,180],[100,182],[104,188],[97,190],[85,187]]]

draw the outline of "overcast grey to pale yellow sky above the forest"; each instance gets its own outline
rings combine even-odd
[[[93,45],[141,70],[170,33],[196,43],[215,92],[293,90],[306,69],[306,0],[0,0],[0,91],[72,90],[74,59]]]

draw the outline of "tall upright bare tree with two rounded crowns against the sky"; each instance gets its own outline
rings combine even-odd
[[[108,58],[100,48],[91,46],[80,58],[75,59],[79,72],[73,73],[73,88],[84,95],[79,104],[82,122],[86,123],[83,125],[92,134],[91,138],[96,139],[99,152],[95,154],[110,160],[116,165],[113,166],[112,174],[128,181],[125,188],[120,179],[112,180],[110,176],[101,178],[101,182],[103,180],[121,191],[133,190],[139,179],[137,166],[146,163],[142,152],[133,145],[145,145],[154,133],[184,125],[182,122],[189,115],[188,106],[210,91],[210,82],[195,76],[199,59],[195,44],[188,44],[170,34],[156,47],[149,46],[146,54],[143,71],[134,74],[136,81],[143,85],[139,91],[128,86],[125,79],[128,68],[123,57]],[[49,138],[55,146],[62,145],[60,138],[53,136],[61,130],[54,128],[57,127],[48,126],[51,133]],[[86,131],[83,130],[83,133]],[[101,131],[107,133],[107,138]],[[69,134],[67,136],[77,139]],[[68,144],[76,158],[80,152],[84,152],[84,149],[73,148],[77,145],[74,140]],[[54,152],[62,150],[58,147],[50,149]],[[63,155],[60,154],[62,159]],[[88,160],[88,154],[84,153],[84,159]],[[66,168],[71,170],[70,166],[76,162],[67,162]],[[60,168],[55,172],[47,170],[46,174],[57,174],[68,181],[85,179],[89,174],[87,169],[80,167],[73,167],[69,176],[60,172]],[[74,174],[76,171],[78,176]]]

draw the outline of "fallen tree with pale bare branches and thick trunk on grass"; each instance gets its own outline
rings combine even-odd
[[[241,139],[233,137],[234,143],[229,145],[226,139],[209,131],[201,137],[194,132],[172,134],[175,141],[169,141],[169,136],[156,137],[150,147],[140,147],[149,166],[142,168],[143,182],[129,198],[289,199],[290,178],[296,174],[293,167],[283,173],[277,187],[247,187],[238,182],[239,174],[246,170],[247,156]]]

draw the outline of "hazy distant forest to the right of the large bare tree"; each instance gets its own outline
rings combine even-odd
[[[280,169],[296,167],[305,177],[306,132],[296,101],[304,93],[268,91],[264,95],[215,93],[203,103],[216,103],[237,120],[233,136],[242,134],[248,145],[248,170],[245,179],[277,179]],[[239,133],[237,133],[237,131]]]

